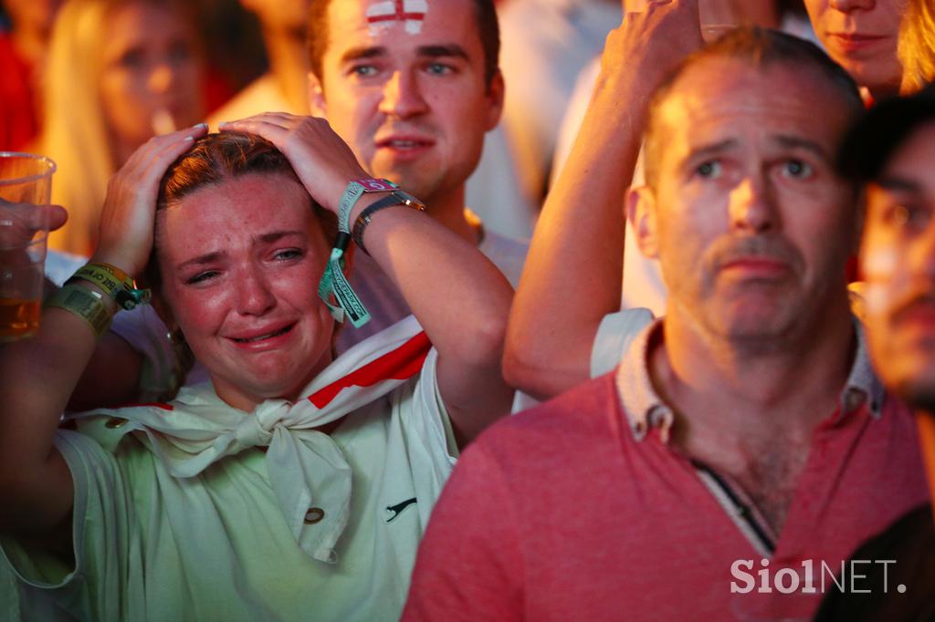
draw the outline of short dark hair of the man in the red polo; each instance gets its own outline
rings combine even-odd
[[[854,78],[812,42],[757,26],[736,28],[690,54],[655,90],[650,100],[645,132],[645,173],[646,183],[650,187],[654,187],[657,174],[657,112],[679,78],[691,67],[710,58],[735,58],[759,70],[765,70],[774,64],[785,64],[802,72],[811,69],[827,78],[828,84],[834,86],[841,95],[846,106],[846,109],[841,110],[841,114],[856,118],[864,109]]]

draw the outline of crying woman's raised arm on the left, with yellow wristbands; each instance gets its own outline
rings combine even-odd
[[[108,185],[101,242],[94,261],[108,262],[130,275],[146,263],[159,180],[192,145],[194,128],[153,138]],[[108,314],[116,304],[92,284]],[[0,347],[0,531],[58,533],[68,536],[74,499],[71,474],[52,438],[97,339],[90,325],[62,308],[42,313],[39,333]],[[106,380],[104,380],[106,381]]]

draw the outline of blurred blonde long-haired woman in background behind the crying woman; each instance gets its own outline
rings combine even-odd
[[[154,134],[201,120],[203,65],[181,1],[69,0],[52,33],[38,149],[68,222],[50,247],[90,256],[108,179]]]

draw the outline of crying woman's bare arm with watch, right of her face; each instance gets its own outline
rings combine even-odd
[[[369,177],[324,119],[266,113],[226,123],[222,130],[259,134],[272,142],[289,158],[309,194],[336,213],[348,182]],[[350,222],[384,196],[361,197]],[[439,352],[439,390],[464,445],[510,412],[513,391],[500,371],[510,284],[476,247],[401,205],[376,212],[365,240]]]

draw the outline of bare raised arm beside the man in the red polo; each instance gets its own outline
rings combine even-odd
[[[604,316],[620,308],[624,201],[649,98],[701,45],[698,0],[649,0],[607,38],[568,162],[546,198],[516,290],[504,374],[539,398],[589,377]]]

